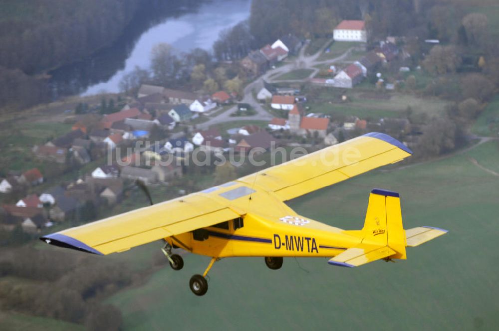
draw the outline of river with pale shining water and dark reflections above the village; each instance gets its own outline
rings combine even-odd
[[[125,73],[135,66],[149,68],[151,49],[158,43],[182,52],[196,47],[212,51],[220,31],[250,16],[250,4],[251,0],[212,0],[188,7],[173,4],[162,8],[164,13],[144,12],[113,45],[50,72],[52,96],[119,92]]]

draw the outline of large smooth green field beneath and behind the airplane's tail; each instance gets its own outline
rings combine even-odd
[[[373,187],[399,191],[406,228],[450,230],[408,248],[407,261],[348,269],[326,259],[286,259],[272,271],[261,258],[226,259],[198,298],[188,281],[209,259],[188,254],[183,270],[165,267],[108,301],[122,310],[125,330],[495,329],[499,178],[469,158],[499,171],[498,149],[490,142],[440,161],[375,170],[290,202],[307,217],[358,229]]]

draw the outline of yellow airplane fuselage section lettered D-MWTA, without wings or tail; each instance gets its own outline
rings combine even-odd
[[[356,246],[361,238],[301,216],[284,216],[273,221],[246,215],[243,222],[223,222],[165,240],[174,247],[217,258],[333,257]]]

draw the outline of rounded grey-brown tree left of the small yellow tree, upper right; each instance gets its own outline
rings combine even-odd
[[[431,74],[456,72],[462,58],[454,46],[434,46],[423,61],[423,66]]]

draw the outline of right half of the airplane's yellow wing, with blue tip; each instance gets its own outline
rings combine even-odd
[[[411,155],[396,139],[374,132],[239,180],[257,183],[286,201]]]

